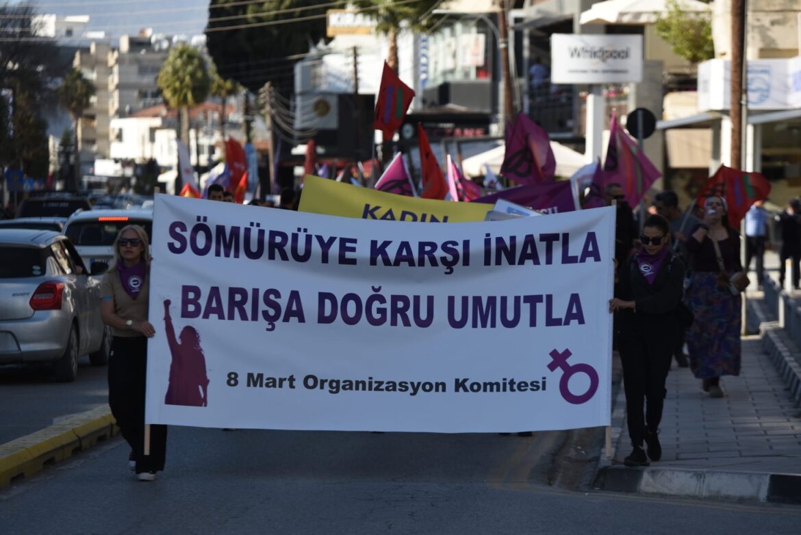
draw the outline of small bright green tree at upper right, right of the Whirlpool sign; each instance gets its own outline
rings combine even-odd
[[[684,11],[676,0],[669,0],[667,10],[657,18],[656,31],[676,54],[693,65],[714,58],[709,10]]]

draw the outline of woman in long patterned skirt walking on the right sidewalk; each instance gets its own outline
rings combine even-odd
[[[720,271],[715,240],[723,258]],[[720,377],[740,374],[740,296],[729,289],[729,278],[743,270],[740,235],[729,227],[726,201],[709,197],[704,202],[703,223],[687,239],[693,277],[687,288],[687,306],[695,321],[687,331],[687,353],[695,377],[704,392],[723,397]]]

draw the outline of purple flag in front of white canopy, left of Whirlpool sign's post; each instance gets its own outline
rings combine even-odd
[[[555,171],[548,133],[521,111],[506,143],[501,175],[518,184],[535,184],[552,180]]]

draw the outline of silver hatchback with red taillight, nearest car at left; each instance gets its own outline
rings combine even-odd
[[[87,271],[65,235],[0,229],[0,364],[53,363],[72,381],[78,357],[108,362],[111,329],[100,316],[99,275]]]

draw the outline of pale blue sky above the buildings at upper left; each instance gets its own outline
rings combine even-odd
[[[10,2],[20,3],[20,2]],[[159,34],[202,34],[209,0],[26,0],[39,13],[89,15],[88,30],[111,37],[153,28]]]

